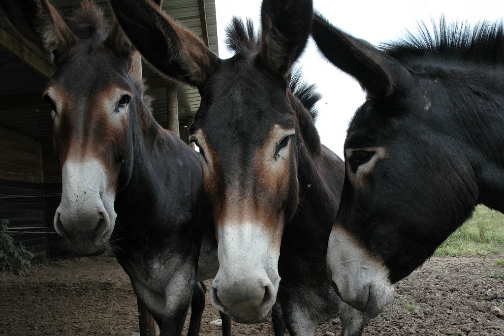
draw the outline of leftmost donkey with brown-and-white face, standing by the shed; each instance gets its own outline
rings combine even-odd
[[[44,93],[62,172],[56,232],[78,254],[113,251],[161,334],[179,335],[195,279],[218,270],[199,154],[156,123],[133,69],[138,52],[91,3],[76,13],[80,38],[47,0],[0,5],[58,68]],[[197,289],[193,335],[204,307]]]

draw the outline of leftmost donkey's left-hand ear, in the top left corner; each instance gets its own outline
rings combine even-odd
[[[77,40],[48,0],[0,0],[0,7],[14,28],[56,61]]]

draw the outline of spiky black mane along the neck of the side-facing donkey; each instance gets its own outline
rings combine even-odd
[[[427,58],[504,68],[502,21],[481,21],[471,26],[467,22],[447,23],[442,17],[438,24],[432,21],[432,32],[425,23],[418,26],[418,35],[407,32],[402,40],[383,44],[384,51],[403,64]]]

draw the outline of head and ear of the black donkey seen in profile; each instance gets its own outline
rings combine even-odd
[[[408,64],[318,16],[312,35],[367,92],[345,141],[346,175],[327,269],[343,301],[375,316],[393,299],[392,284],[469,216],[478,197],[474,173],[449,134],[453,97],[428,75],[438,65],[421,62],[420,43]]]

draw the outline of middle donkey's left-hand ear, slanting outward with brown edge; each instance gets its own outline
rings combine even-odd
[[[150,0],[111,0],[117,21],[142,56],[161,73],[201,87],[220,59]]]

